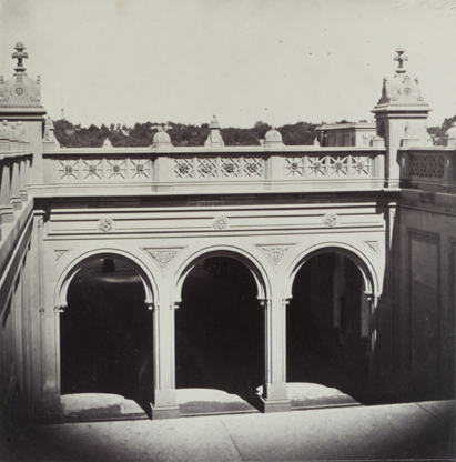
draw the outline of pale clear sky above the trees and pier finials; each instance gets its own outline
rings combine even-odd
[[[456,114],[456,0],[0,0],[6,79],[17,41],[84,127],[373,120],[398,46],[428,125]]]

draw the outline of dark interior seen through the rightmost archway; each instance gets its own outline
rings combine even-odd
[[[368,304],[348,258],[322,253],[296,273],[287,307],[287,381],[336,388],[364,399],[368,373]]]

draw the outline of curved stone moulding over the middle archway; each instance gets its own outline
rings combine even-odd
[[[192,269],[199,262],[211,257],[229,257],[243,263],[250,270],[255,280],[257,299],[266,300],[271,298],[271,285],[267,272],[257,259],[255,259],[252,254],[245,252],[240,248],[231,245],[212,245],[209,248],[201,249],[197,252],[190,255],[176,271],[172,285],[172,300],[175,303],[179,303],[181,301],[182,285],[190,271],[192,271]]]

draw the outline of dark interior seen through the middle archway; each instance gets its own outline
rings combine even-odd
[[[176,388],[234,393],[255,405],[264,380],[263,309],[240,261],[211,257],[188,274],[176,310]]]

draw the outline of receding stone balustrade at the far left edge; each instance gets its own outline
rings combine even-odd
[[[14,212],[29,199],[31,161],[30,151],[0,152],[0,240],[4,227],[14,222]]]

